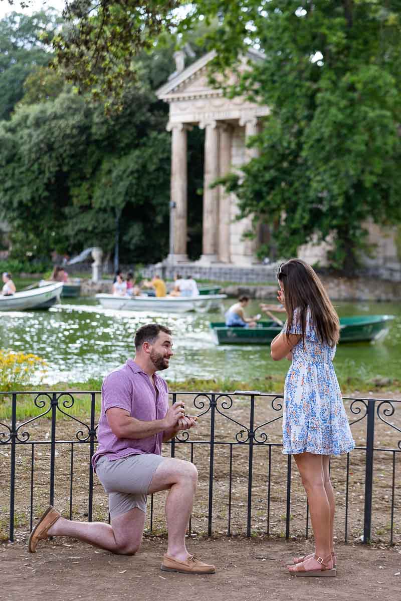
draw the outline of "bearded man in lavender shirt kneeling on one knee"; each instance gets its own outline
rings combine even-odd
[[[109,495],[111,523],[64,519],[51,505],[28,540],[30,552],[51,536],[78,538],[115,554],[135,555],[145,526],[147,495],[168,490],[167,553],[161,569],[185,574],[212,574],[186,549],[186,530],[197,489],[194,464],[162,457],[162,443],[196,425],[182,401],[168,404],[168,386],[156,371],[168,368],[173,356],[170,329],[148,323],[137,329],[135,357],[105,377],[102,409],[92,458],[93,469]]]

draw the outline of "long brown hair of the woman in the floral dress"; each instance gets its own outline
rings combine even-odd
[[[293,323],[294,310],[298,309],[302,341],[305,342],[307,310],[320,342],[334,346],[340,338],[340,322],[322,282],[308,263],[290,259],[280,265],[277,278],[283,283],[284,305],[288,314],[287,338]]]

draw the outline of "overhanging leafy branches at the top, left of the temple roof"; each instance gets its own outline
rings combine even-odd
[[[52,40],[54,66],[66,73],[81,91],[105,101],[106,111],[123,108],[126,90],[141,81],[133,60],[152,50],[156,38],[173,31],[173,9],[180,0],[103,0],[97,5],[76,0],[66,5],[70,26]],[[108,99],[112,97],[112,102]]]

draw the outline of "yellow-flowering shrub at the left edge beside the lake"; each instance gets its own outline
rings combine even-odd
[[[16,386],[29,384],[38,372],[41,382],[46,365],[44,359],[32,353],[0,349],[0,390],[7,392]]]

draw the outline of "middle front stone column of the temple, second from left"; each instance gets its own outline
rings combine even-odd
[[[219,189],[210,184],[219,177],[219,128],[216,121],[201,122],[204,135],[203,238],[200,263],[218,261]]]

